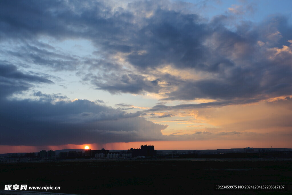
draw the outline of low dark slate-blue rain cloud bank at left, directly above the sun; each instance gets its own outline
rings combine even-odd
[[[51,96],[37,92],[42,98]],[[158,125],[88,100],[1,103],[2,145],[62,145],[162,140]]]

